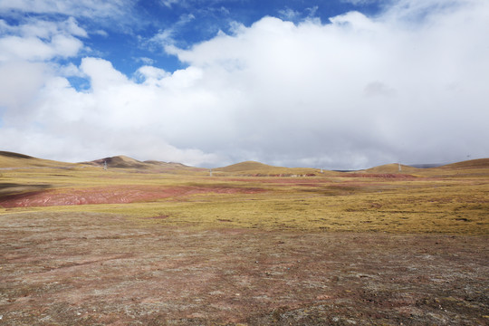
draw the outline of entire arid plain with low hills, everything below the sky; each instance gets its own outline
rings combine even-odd
[[[489,324],[489,159],[103,161],[0,152],[0,324]]]

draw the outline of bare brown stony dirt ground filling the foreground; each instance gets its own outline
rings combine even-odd
[[[487,243],[11,214],[0,324],[489,325]]]

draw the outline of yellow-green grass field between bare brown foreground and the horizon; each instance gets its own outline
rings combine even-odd
[[[83,211],[122,214],[140,223],[205,228],[488,235],[488,162],[403,167],[400,172],[398,165],[387,165],[349,173],[245,162],[217,168],[212,177],[208,170],[197,168],[103,170],[87,165],[52,167],[49,162],[35,168],[31,163],[0,170],[0,199],[6,202],[5,198],[24,194],[28,203],[31,193],[32,197],[56,194],[58,202],[4,204],[8,207],[0,208],[0,214]],[[266,177],[271,175],[278,177]],[[123,203],[109,198],[91,204],[90,197],[104,197],[120,187],[133,193],[156,188],[150,197],[141,194]],[[77,195],[82,200],[65,205],[63,196],[80,189],[86,189]]]

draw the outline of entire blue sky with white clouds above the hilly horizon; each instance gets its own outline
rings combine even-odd
[[[216,168],[489,158],[487,0],[0,0],[0,150]]]

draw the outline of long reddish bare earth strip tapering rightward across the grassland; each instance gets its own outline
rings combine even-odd
[[[158,187],[158,186],[113,186],[62,188],[34,191],[0,198],[0,206],[64,206],[87,204],[121,204],[158,200],[168,197],[183,197],[195,194],[254,194],[264,191],[256,187]]]

